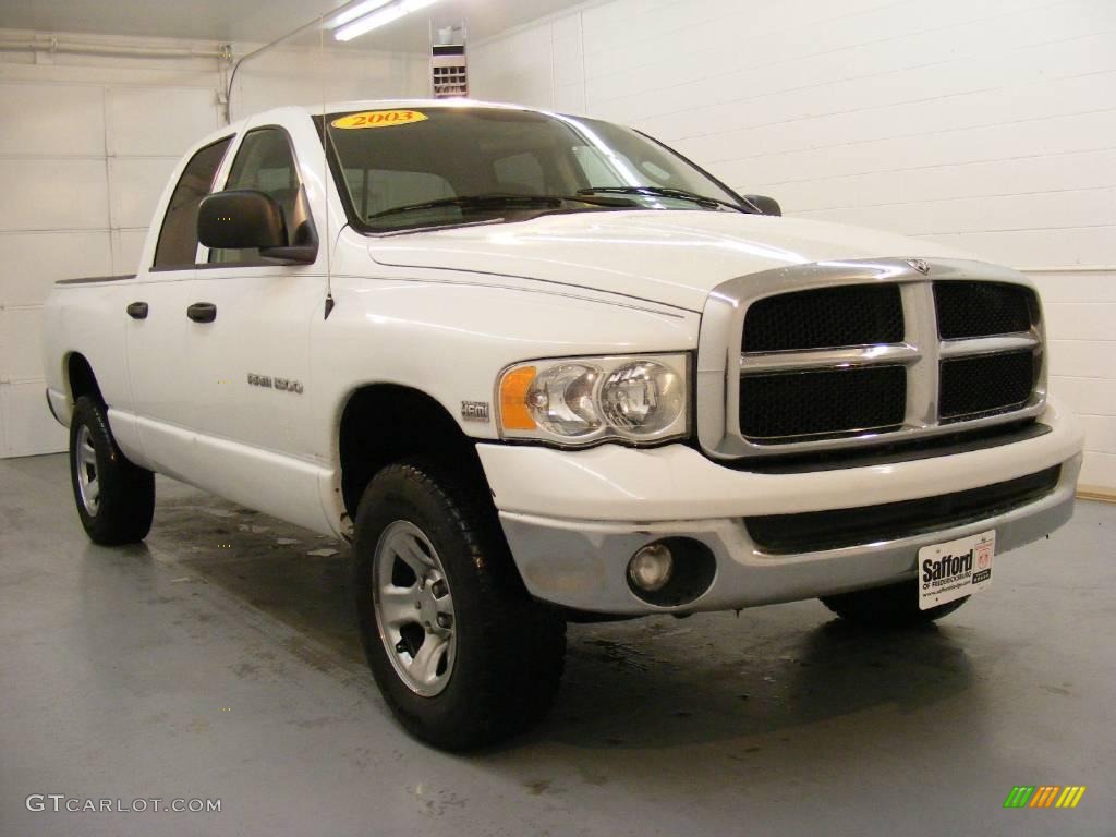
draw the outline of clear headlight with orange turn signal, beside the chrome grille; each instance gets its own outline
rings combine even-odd
[[[687,373],[686,355],[518,364],[500,376],[500,433],[565,445],[684,436]]]

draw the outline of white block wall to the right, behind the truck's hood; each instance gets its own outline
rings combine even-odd
[[[788,215],[1027,270],[1083,484],[1116,490],[1116,2],[610,0],[473,45],[470,76],[648,131]]]

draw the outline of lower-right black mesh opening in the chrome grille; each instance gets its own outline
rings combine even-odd
[[[960,422],[1026,406],[1035,389],[1037,366],[1033,352],[943,360],[937,401],[941,421]]]

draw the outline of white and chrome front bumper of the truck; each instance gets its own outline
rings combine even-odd
[[[902,581],[918,549],[995,529],[997,551],[1037,540],[1069,520],[1083,434],[1049,405],[1045,435],[1013,444],[892,464],[808,473],[734,471],[684,445],[604,445],[564,452],[480,444],[503,531],[527,588],[542,600],[600,614],[693,613],[792,602]],[[763,552],[744,519],[865,508],[949,494],[1061,466],[1054,490],[963,526],[913,537],[792,555]],[[657,607],[627,586],[632,555],[651,541],[686,537],[716,559],[709,589]]]

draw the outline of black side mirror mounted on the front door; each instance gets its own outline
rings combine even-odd
[[[318,242],[309,227],[305,232],[288,246],[282,209],[254,189],[215,192],[198,208],[198,240],[213,249],[256,248],[264,259],[309,264],[318,256]]]

